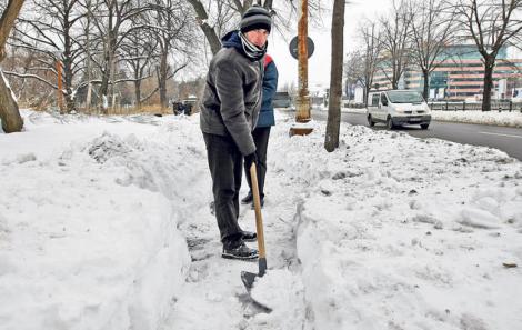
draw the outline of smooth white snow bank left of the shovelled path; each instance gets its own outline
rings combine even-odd
[[[37,117],[0,151],[2,329],[155,329],[190,263],[172,193],[187,176],[164,131]],[[74,129],[68,147],[52,138]]]

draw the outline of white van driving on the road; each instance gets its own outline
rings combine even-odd
[[[430,107],[414,90],[373,91],[368,94],[367,119],[370,127],[384,122],[389,129],[403,124],[420,124],[428,129]]]

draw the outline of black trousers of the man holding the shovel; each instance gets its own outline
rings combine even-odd
[[[203,133],[203,139],[221,241],[223,244],[234,244],[242,237],[238,217],[243,156],[230,136]]]

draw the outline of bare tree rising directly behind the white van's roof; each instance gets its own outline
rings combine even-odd
[[[412,17],[406,9],[405,0],[400,0],[400,2],[393,0],[391,18],[380,18],[383,61],[387,64],[387,69],[382,71],[390,80],[392,89],[399,88],[399,80],[404,73],[410,59],[408,41],[411,33]]]

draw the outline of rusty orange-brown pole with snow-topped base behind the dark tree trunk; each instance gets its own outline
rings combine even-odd
[[[313,128],[309,124],[310,93],[308,91],[308,0],[300,0],[298,22],[298,71],[299,91],[297,100],[295,123],[290,128],[290,136],[310,134]]]

